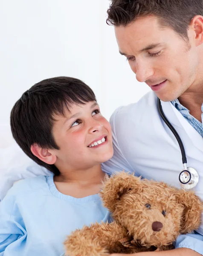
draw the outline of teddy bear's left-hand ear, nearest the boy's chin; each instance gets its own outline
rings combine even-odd
[[[111,177],[106,177],[104,188],[101,191],[104,206],[113,212],[116,202],[118,202],[121,196],[132,189],[136,190],[138,187],[141,187],[141,184],[141,177],[136,177],[124,171],[117,172]]]

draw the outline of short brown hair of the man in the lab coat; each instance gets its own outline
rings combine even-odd
[[[195,15],[203,15],[203,0],[111,0],[107,24],[127,26],[138,17],[155,15],[160,25],[171,27],[188,41],[188,26]]]

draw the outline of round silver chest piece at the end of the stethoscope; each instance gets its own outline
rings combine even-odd
[[[188,167],[180,172],[179,181],[182,189],[191,190],[197,186],[199,181],[198,172],[194,168]]]

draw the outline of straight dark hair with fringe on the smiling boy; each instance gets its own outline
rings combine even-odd
[[[38,144],[42,148],[59,149],[52,126],[54,115],[64,115],[64,107],[96,101],[93,91],[83,81],[71,77],[45,79],[23,93],[11,111],[11,130],[22,150],[36,163],[46,167],[55,175],[60,172],[32,154],[30,147]]]

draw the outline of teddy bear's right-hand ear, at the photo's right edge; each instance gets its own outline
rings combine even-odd
[[[180,233],[190,233],[200,226],[203,203],[193,191],[185,191],[181,189],[176,192],[175,195],[178,203],[181,204],[184,209],[181,219]]]

